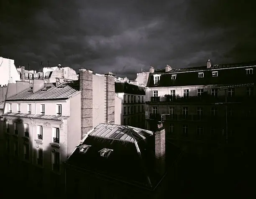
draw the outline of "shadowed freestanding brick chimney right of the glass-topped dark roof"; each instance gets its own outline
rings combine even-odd
[[[165,128],[163,124],[158,124],[155,134],[155,161],[156,171],[160,175],[165,173]]]

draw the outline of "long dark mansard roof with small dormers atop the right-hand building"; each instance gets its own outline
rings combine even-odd
[[[233,68],[231,68],[233,67]],[[168,86],[194,86],[194,85],[232,85],[232,84],[243,84],[243,83],[254,83],[256,79],[256,67],[251,65],[250,68],[254,68],[253,74],[246,74],[246,66],[239,68],[233,65],[224,67],[222,65],[212,66],[210,69],[205,67],[187,68],[187,69],[174,69],[167,73],[161,73],[161,77],[158,85],[154,85],[154,74],[151,73],[149,77],[148,87],[168,87]],[[187,70],[187,71],[186,71]],[[213,77],[212,72],[218,71],[218,76]],[[199,78],[198,73],[203,72],[204,77]],[[172,80],[172,75],[176,74],[176,79]]]

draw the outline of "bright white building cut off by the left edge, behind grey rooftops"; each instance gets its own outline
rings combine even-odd
[[[20,81],[19,73],[15,67],[14,60],[0,56],[0,86]]]

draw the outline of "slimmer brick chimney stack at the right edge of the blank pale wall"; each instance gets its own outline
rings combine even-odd
[[[105,75],[106,78],[106,123],[115,123],[115,76]]]

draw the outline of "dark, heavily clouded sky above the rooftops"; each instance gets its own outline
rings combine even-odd
[[[130,78],[150,65],[256,60],[255,10],[245,0],[1,0],[0,55]]]

